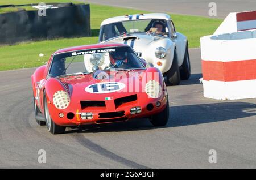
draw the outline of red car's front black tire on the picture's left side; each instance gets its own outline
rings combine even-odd
[[[52,134],[63,134],[65,132],[66,127],[56,125],[49,114],[46,96],[44,94],[44,117],[46,118],[46,127],[49,132]]]

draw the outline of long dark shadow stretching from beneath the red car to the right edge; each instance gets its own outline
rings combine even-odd
[[[152,130],[155,128],[170,128],[218,121],[229,121],[232,119],[251,117],[253,115],[256,115],[256,104],[246,102],[183,105],[173,106],[170,108],[170,119],[168,124],[164,127],[154,127],[147,118],[143,118],[105,125],[86,125],[79,128],[73,127],[68,128],[65,133]]]

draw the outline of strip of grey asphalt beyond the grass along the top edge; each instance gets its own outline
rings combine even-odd
[[[225,18],[229,12],[256,10],[255,0],[80,0],[89,3],[100,3],[117,7],[134,8],[153,12],[170,12]],[[216,3],[217,16],[209,16],[209,3]],[[128,13],[128,12],[127,12]]]

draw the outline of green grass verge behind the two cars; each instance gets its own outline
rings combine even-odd
[[[1,2],[3,4],[39,3],[41,1],[16,1]],[[47,2],[71,2],[65,0],[44,0]],[[76,2],[76,1],[73,1]],[[77,3],[77,2],[76,2]],[[78,2],[80,3],[80,2]],[[59,40],[46,40],[37,42],[24,42],[18,45],[0,47],[0,71],[18,68],[37,67],[47,62],[49,56],[57,49],[68,46],[95,44],[98,42],[100,23],[106,18],[125,14],[147,13],[147,11],[127,8],[111,7],[90,4],[92,37],[64,38]],[[222,19],[204,18],[199,16],[171,14],[177,32],[188,37],[189,48],[200,46],[200,37],[210,35],[221,24]],[[39,54],[44,54],[39,57]]]

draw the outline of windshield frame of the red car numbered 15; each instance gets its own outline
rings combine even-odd
[[[51,58],[51,63],[49,63],[49,68],[47,71],[47,76],[49,75],[49,72],[51,72],[51,68],[52,68],[52,63],[54,61],[54,58],[56,57],[56,55],[60,55],[60,54],[65,54],[65,53],[72,53],[72,52],[83,52],[85,50],[97,50],[97,49],[104,49],[104,48],[119,48],[119,47],[126,47],[126,48],[130,48],[132,50],[132,52],[135,54],[135,57],[137,57],[139,63],[141,63],[142,68],[129,68],[129,69],[123,69],[123,70],[146,70],[146,66],[143,64],[143,62],[141,61],[141,58],[138,57],[138,54],[134,51],[133,48],[131,48],[130,46],[127,45],[120,45],[120,46],[108,46],[108,47],[101,47],[101,48],[88,48],[88,49],[80,49],[80,50],[69,50],[67,52],[61,52],[61,53],[56,53],[52,55]],[[103,70],[103,71],[109,71],[109,70]],[[78,72],[77,72],[78,73]],[[90,72],[92,73],[92,72]],[[85,73],[85,74],[90,74],[90,73]],[[55,78],[57,78],[58,76],[56,76]]]

